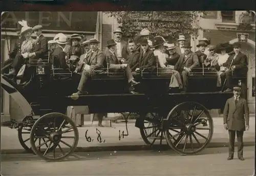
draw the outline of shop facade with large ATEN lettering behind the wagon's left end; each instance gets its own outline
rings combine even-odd
[[[106,41],[112,39],[117,27],[116,20],[104,12],[6,12],[1,20],[1,64],[8,59],[8,51],[14,48],[17,39],[15,28],[21,20],[26,20],[30,27],[42,25],[42,33],[48,40],[57,33],[67,36],[76,33],[87,39],[98,39],[100,49],[106,47]],[[24,116],[20,107],[1,89],[1,120],[19,119],[20,116]]]

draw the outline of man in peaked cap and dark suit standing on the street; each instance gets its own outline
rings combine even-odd
[[[224,128],[229,134],[229,148],[227,160],[232,160],[234,156],[234,138],[238,139],[238,158],[243,158],[243,135],[245,130],[249,130],[249,108],[246,100],[240,97],[241,86],[233,87],[232,98],[226,101],[223,120]]]

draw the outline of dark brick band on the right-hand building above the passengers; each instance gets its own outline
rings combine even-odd
[[[255,41],[255,32],[245,31],[209,30],[209,32],[204,32],[204,37],[210,38],[212,45],[217,45],[218,43],[228,42],[234,38],[237,38],[237,33],[248,33],[249,39]]]

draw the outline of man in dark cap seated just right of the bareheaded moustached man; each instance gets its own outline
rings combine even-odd
[[[135,69],[137,73],[134,72],[134,74],[140,74],[141,71],[153,72],[156,69],[156,60],[153,51],[149,49],[148,40],[143,38],[140,45],[142,52],[139,56],[138,68]]]

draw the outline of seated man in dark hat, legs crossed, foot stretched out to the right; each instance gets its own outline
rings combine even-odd
[[[109,69],[114,72],[120,72],[121,70],[124,70],[125,76],[127,77],[127,81],[132,88],[132,89],[130,89],[130,93],[134,94],[135,92],[134,92],[133,86],[138,84],[139,82],[136,82],[134,80],[132,71],[130,69],[130,65],[128,63],[122,63],[117,58],[116,53],[115,53],[116,45],[117,44],[115,43],[115,41],[113,39],[108,41],[107,47],[109,50],[106,51],[105,58],[109,64]]]

